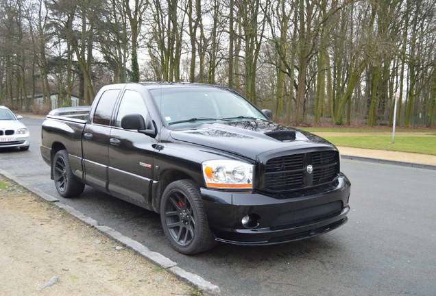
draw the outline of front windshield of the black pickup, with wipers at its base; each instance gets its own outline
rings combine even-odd
[[[268,119],[243,97],[219,88],[187,87],[150,90],[168,125]]]

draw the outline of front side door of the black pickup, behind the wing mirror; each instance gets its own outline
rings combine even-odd
[[[108,188],[112,195],[149,208],[154,170],[152,145],[156,140],[137,130],[123,129],[121,119],[130,114],[141,114],[144,119],[149,116],[143,95],[126,88],[110,132]]]

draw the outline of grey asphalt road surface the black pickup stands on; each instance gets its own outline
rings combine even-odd
[[[92,188],[59,197],[40,157],[42,122],[23,119],[30,149],[0,149],[1,169],[217,284],[223,295],[436,295],[436,171],[343,160],[352,182],[343,227],[296,243],[219,244],[184,256],[169,247],[158,214]]]

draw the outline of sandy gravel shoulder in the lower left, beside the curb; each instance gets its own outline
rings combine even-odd
[[[0,176],[1,295],[197,295],[171,273]]]

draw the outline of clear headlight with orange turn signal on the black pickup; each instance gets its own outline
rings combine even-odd
[[[254,166],[237,160],[207,160],[203,162],[206,186],[211,188],[253,188]]]

